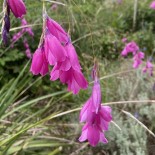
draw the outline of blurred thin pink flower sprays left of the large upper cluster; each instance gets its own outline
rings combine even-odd
[[[13,35],[12,37],[12,47],[14,46],[15,42],[17,42],[20,38],[23,37],[23,35],[25,33],[28,33],[29,36],[33,37],[34,36],[34,33],[32,31],[32,28],[31,27],[25,27],[27,26],[28,23],[26,21],[25,18],[22,18],[21,19],[21,26],[23,26],[23,28],[16,34]],[[30,50],[30,47],[29,47],[29,44],[28,44],[28,41],[27,41],[27,38],[24,37],[24,40],[23,40],[23,43],[24,43],[24,47],[25,47],[25,54],[28,58],[31,58],[32,57],[32,54],[31,54],[31,50]]]

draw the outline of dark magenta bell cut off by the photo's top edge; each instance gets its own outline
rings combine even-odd
[[[26,14],[26,7],[22,0],[7,0],[8,5],[16,18]]]

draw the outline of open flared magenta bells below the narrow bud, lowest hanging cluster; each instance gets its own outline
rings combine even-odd
[[[109,123],[112,120],[111,108],[109,106],[100,106],[100,110],[97,114],[89,111],[85,116],[87,116],[85,118],[86,124],[82,129],[79,141],[83,142],[88,140],[92,146],[96,146],[99,142],[108,143],[104,132],[108,130]]]

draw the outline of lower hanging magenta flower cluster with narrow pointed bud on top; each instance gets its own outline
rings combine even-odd
[[[80,142],[88,140],[91,146],[96,146],[99,142],[108,143],[104,132],[108,130],[112,120],[111,108],[101,105],[101,88],[94,70],[94,86],[92,95],[86,101],[80,112],[80,122],[85,122],[82,128]]]

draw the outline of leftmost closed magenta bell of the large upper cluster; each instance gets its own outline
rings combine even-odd
[[[30,71],[34,75],[38,75],[39,73],[44,76],[48,73],[48,62],[45,57],[45,52],[42,47],[38,48],[32,58],[32,64]]]

